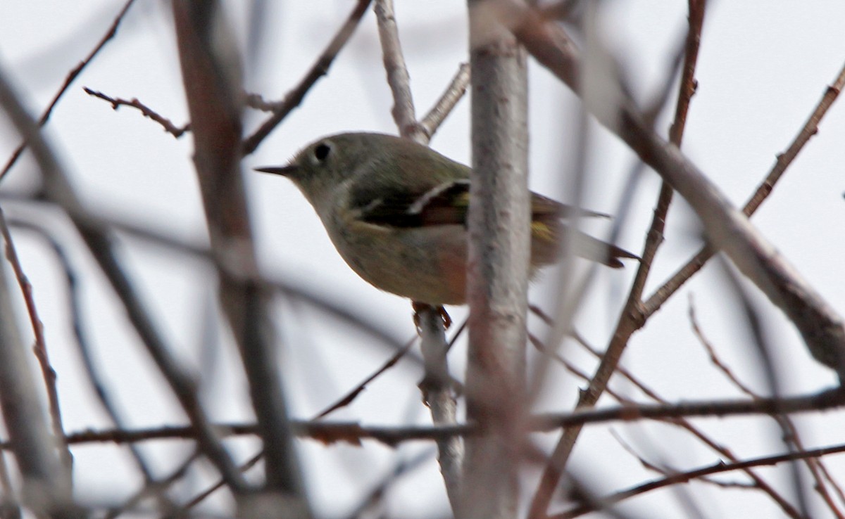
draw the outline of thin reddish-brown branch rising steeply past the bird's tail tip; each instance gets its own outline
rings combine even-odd
[[[689,29],[684,45],[684,66],[682,68],[679,85],[678,101],[675,108],[674,121],[672,123],[671,138],[676,146],[680,146],[684,135],[684,125],[687,111],[690,107],[690,99],[695,93],[695,63],[698,60],[698,51],[701,43],[701,28],[704,24],[706,3],[704,0],[690,0]],[[519,33],[516,33],[519,35]],[[565,47],[572,53],[574,48]],[[571,78],[570,78],[571,79]],[[651,121],[653,124],[653,119]],[[634,282],[631,284],[628,299],[625,301],[624,309],[619,312],[619,321],[613,331],[610,343],[602,360],[592,377],[589,387],[582,391],[578,397],[576,408],[592,407],[608,387],[608,381],[619,365],[625,347],[628,345],[631,335],[639,330],[646,322],[640,310],[642,291],[646,285],[646,279],[651,272],[651,264],[657,254],[657,248],[663,241],[663,228],[666,222],[669,205],[672,202],[673,190],[667,181],[662,182],[660,194],[657,197],[657,208],[651,219],[651,225],[646,234],[646,245],[641,254],[641,262],[635,274]],[[555,446],[552,457],[542,473],[540,484],[532,500],[529,516],[532,518],[542,517],[548,510],[548,504],[552,499],[553,491],[557,488],[561,471],[569,460],[575,441],[580,435],[578,427],[564,430],[558,445]]]

